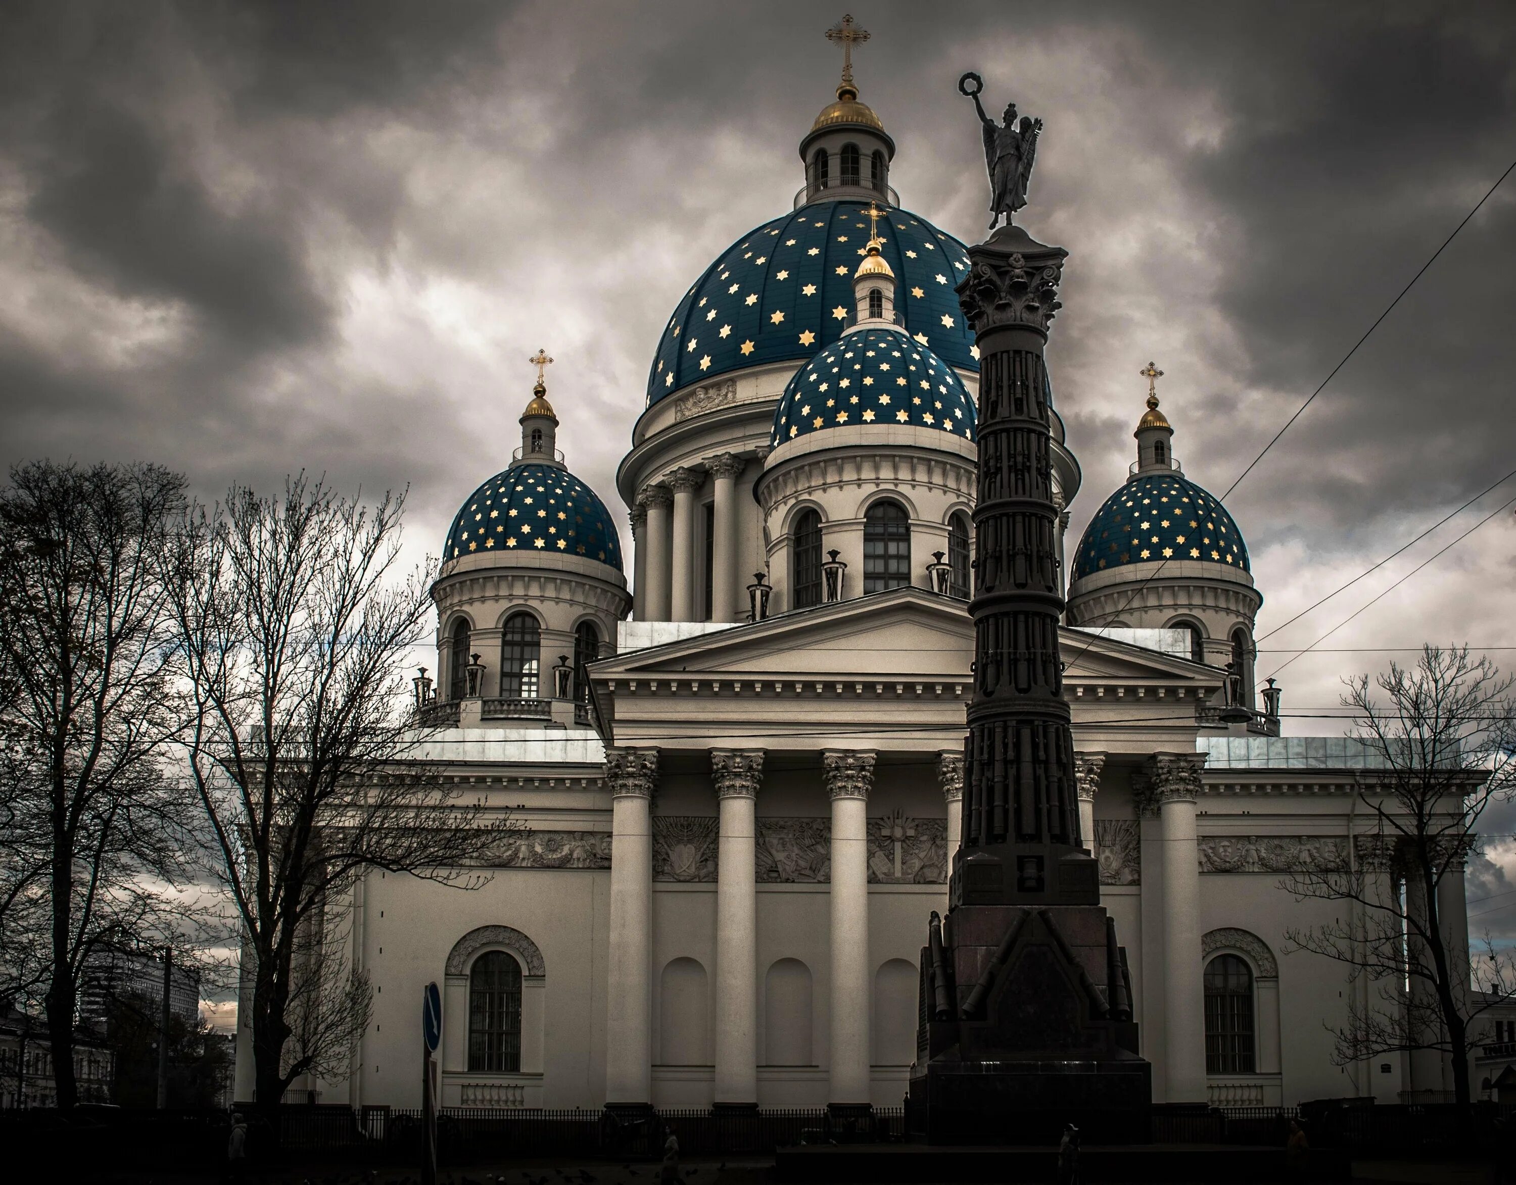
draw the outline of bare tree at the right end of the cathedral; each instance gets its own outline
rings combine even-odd
[[[1516,996],[1510,952],[1487,941],[1471,959],[1461,893],[1480,817],[1516,791],[1513,679],[1467,647],[1428,646],[1414,668],[1392,662],[1375,685],[1383,699],[1367,676],[1343,697],[1372,758],[1358,794],[1372,829],[1355,836],[1348,868],[1286,882],[1301,900],[1348,909],[1286,936],[1373,986],[1375,999],[1355,1000],[1346,1024],[1333,1029],[1339,1065],[1434,1050],[1449,1056],[1454,1099],[1467,1105],[1472,1023]]]

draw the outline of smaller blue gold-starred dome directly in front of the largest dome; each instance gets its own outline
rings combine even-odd
[[[937,355],[893,329],[860,329],[794,373],[770,446],[857,424],[913,424],[976,439],[973,399]]]

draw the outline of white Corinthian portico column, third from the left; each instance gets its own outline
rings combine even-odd
[[[869,1106],[869,791],[873,753],[822,753],[832,800],[831,1106]]]

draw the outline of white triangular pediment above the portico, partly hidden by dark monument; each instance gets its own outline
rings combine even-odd
[[[1067,680],[1214,685],[1214,668],[1076,629],[1060,630]],[[658,676],[969,680],[973,621],[961,600],[897,588],[629,650],[596,682]]]

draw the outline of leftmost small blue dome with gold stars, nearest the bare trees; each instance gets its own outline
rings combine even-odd
[[[615,521],[596,492],[553,465],[512,465],[458,511],[443,562],[478,552],[555,552],[622,571]]]

